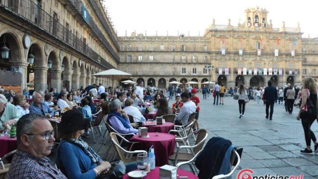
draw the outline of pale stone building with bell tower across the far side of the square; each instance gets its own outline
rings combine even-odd
[[[295,28],[274,28],[262,8],[245,10],[245,22],[216,25],[213,19],[203,36],[118,37],[119,69],[146,85],[167,87],[168,82],[211,81],[226,87],[244,84],[264,87],[300,85],[303,77],[317,79],[317,39],[304,39]],[[317,50],[316,50],[317,49]],[[211,65],[211,74],[206,70]]]

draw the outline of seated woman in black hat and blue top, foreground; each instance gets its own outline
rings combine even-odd
[[[88,124],[88,119],[84,119],[78,109],[69,110],[62,116],[59,125],[62,140],[55,161],[68,179],[95,179],[111,168],[109,162],[102,161],[98,154],[80,138]],[[135,169],[137,169],[135,163],[126,165],[126,171]]]

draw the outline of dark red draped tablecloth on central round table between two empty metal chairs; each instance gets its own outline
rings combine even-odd
[[[156,166],[163,166],[168,164],[168,157],[174,152],[174,139],[175,136],[166,133],[148,132],[148,138],[141,138],[139,135],[134,135],[130,141],[140,142],[144,147],[144,150],[149,150],[151,146],[154,146],[156,156]]]

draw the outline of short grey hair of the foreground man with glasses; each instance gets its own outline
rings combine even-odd
[[[35,119],[43,119],[47,120],[44,115],[40,115],[37,113],[29,113],[23,115],[18,122],[16,123],[16,142],[17,144],[21,144],[21,136],[22,134],[31,134],[33,130],[33,121]]]

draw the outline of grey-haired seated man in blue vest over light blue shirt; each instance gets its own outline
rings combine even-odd
[[[107,122],[119,133],[129,134],[138,133],[136,123],[130,123],[129,118],[124,110],[121,110],[121,102],[119,99],[113,100],[109,104],[110,113],[108,114]]]

